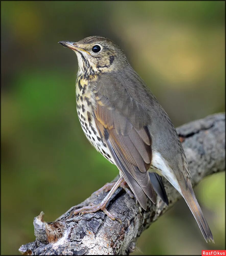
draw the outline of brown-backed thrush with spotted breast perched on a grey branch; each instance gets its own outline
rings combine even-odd
[[[163,176],[185,199],[205,240],[213,241],[176,129],[124,51],[101,36],[59,43],[77,55],[76,106],[82,130],[120,174],[99,204],[76,209],[74,214],[102,210],[120,221],[106,205],[116,189],[126,185],[144,210],[147,197],[156,203],[156,193],[168,205]]]

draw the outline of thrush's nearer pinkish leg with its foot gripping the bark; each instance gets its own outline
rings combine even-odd
[[[116,189],[121,185],[121,183],[123,181],[124,181],[124,178],[120,177],[115,182],[115,184],[111,188],[108,195],[106,195],[105,198],[99,204],[92,205],[92,206],[85,206],[85,207],[76,209],[74,211],[74,215],[86,214],[86,213],[91,213],[91,212],[96,212],[96,211],[102,210],[109,218],[111,218],[112,220],[118,220],[121,223],[121,220],[118,217],[115,217],[114,215],[112,215],[105,207],[106,207],[106,204],[108,203],[109,199],[111,198],[111,196],[115,193]]]

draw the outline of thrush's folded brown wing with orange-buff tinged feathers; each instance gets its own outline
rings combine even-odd
[[[124,114],[119,113],[120,110],[117,106],[120,105],[120,108],[123,108],[123,104],[126,104],[123,99],[132,102],[129,95],[125,95],[123,92],[123,97],[120,97],[120,94],[114,91],[115,95],[112,98],[111,94],[111,99],[109,99],[110,92],[107,91],[109,89],[106,88],[105,93],[103,90],[97,89],[95,93],[97,105],[93,114],[96,125],[99,128],[100,136],[111,151],[121,175],[141,206],[146,209],[145,194],[156,203],[156,195],[148,175],[152,158],[151,137],[146,126],[137,123],[139,118],[136,118],[136,112],[133,112],[132,117],[136,122],[135,125],[125,114],[131,111],[126,110],[126,105]],[[112,99],[114,99],[113,102]],[[137,108],[137,105],[133,105]]]

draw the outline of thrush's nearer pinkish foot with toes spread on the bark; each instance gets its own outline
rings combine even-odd
[[[100,202],[99,204],[97,205],[94,205],[93,203],[90,203],[90,206],[85,206],[85,207],[82,207],[82,208],[79,208],[79,209],[76,209],[73,214],[74,215],[77,215],[79,214],[80,215],[83,215],[83,214],[86,214],[86,213],[93,213],[93,212],[96,212],[96,211],[103,211],[110,219],[112,220],[117,220],[120,224],[122,223],[121,219],[114,216],[113,214],[111,214],[107,209],[106,209],[106,202]]]

